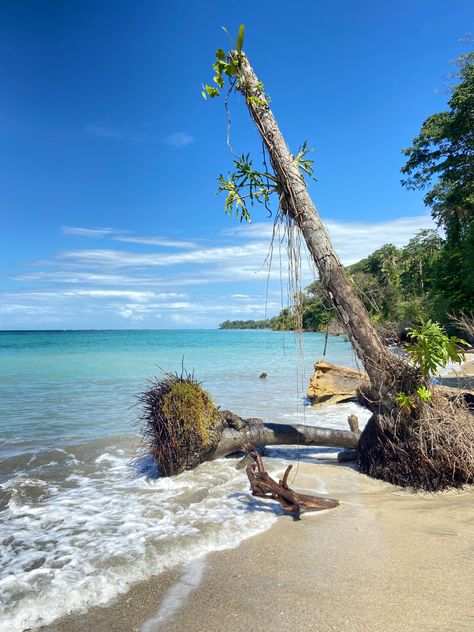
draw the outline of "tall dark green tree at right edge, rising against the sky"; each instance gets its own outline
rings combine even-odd
[[[425,204],[446,230],[430,272],[438,318],[474,311],[474,52],[457,64],[449,110],[426,119],[402,168],[407,188],[428,189]]]

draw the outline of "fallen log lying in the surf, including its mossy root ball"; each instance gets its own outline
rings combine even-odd
[[[239,452],[246,443],[355,448],[360,432],[263,423],[220,410],[192,375],[165,373],[141,394],[142,433],[162,476]]]

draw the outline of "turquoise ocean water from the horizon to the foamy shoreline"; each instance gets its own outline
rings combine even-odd
[[[353,403],[308,407],[323,347],[322,334],[250,330],[0,332],[0,631],[107,603],[268,528],[278,508],[253,510],[232,460],[171,479],[131,465],[143,449],[137,394],[184,366],[243,417],[346,428],[356,412],[363,423]],[[326,357],[355,365],[343,337]],[[326,491],[316,473],[314,491]]]

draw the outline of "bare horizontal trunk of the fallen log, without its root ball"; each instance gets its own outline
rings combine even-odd
[[[236,430],[225,428],[222,437],[207,461],[238,452],[242,446],[252,443],[255,447],[266,445],[318,445],[335,448],[356,448],[360,432],[337,430],[299,424],[253,423]]]

